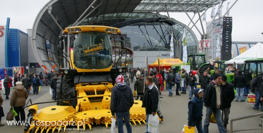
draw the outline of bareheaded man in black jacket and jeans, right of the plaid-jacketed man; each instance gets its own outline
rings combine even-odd
[[[148,119],[149,115],[156,115],[159,111],[159,91],[157,86],[154,84],[154,78],[148,76],[146,78],[146,90],[142,98],[142,107],[146,108],[146,132],[148,131]]]

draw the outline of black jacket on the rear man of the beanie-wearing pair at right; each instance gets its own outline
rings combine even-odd
[[[224,108],[230,108],[231,102],[235,98],[235,92],[233,85],[226,83],[225,85],[220,85],[222,96],[221,96],[221,110]]]

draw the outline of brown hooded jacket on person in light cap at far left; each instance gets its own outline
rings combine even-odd
[[[27,97],[27,90],[23,85],[15,86],[11,95],[10,106],[25,106],[25,100],[27,100]]]

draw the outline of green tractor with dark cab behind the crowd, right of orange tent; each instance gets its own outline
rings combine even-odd
[[[177,65],[173,65],[171,69],[174,73],[177,73],[181,70],[182,65],[190,65],[190,69],[198,70],[199,73],[202,75],[207,68],[213,69],[213,65],[208,63],[205,59],[206,54],[203,53],[192,53],[188,54],[187,63],[181,63]]]

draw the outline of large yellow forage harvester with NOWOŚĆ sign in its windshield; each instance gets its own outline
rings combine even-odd
[[[55,88],[55,102],[57,105],[38,109],[37,105],[29,106],[31,118],[27,121],[24,132],[36,132],[41,130],[49,132],[52,130],[65,129],[68,125],[89,127],[92,124],[111,124],[111,89],[115,85],[115,78],[127,70],[126,58],[127,47],[120,30],[107,26],[77,26],[68,27],[63,35],[59,37],[58,70],[61,76],[57,77]],[[63,37],[65,36],[65,37]],[[115,48],[112,48],[112,40]],[[67,42],[71,49],[68,57],[63,52]],[[65,51],[65,50],[64,50]],[[113,59],[113,53],[118,54],[118,59]],[[123,66],[124,64],[124,66]],[[68,66],[67,68],[65,66]],[[127,82],[127,78],[125,79]],[[130,109],[130,120],[136,124],[146,124],[145,108],[142,101],[135,100]],[[36,125],[33,123],[47,123],[47,125]],[[79,125],[81,123],[81,125]],[[62,125],[62,126],[61,126]]]

